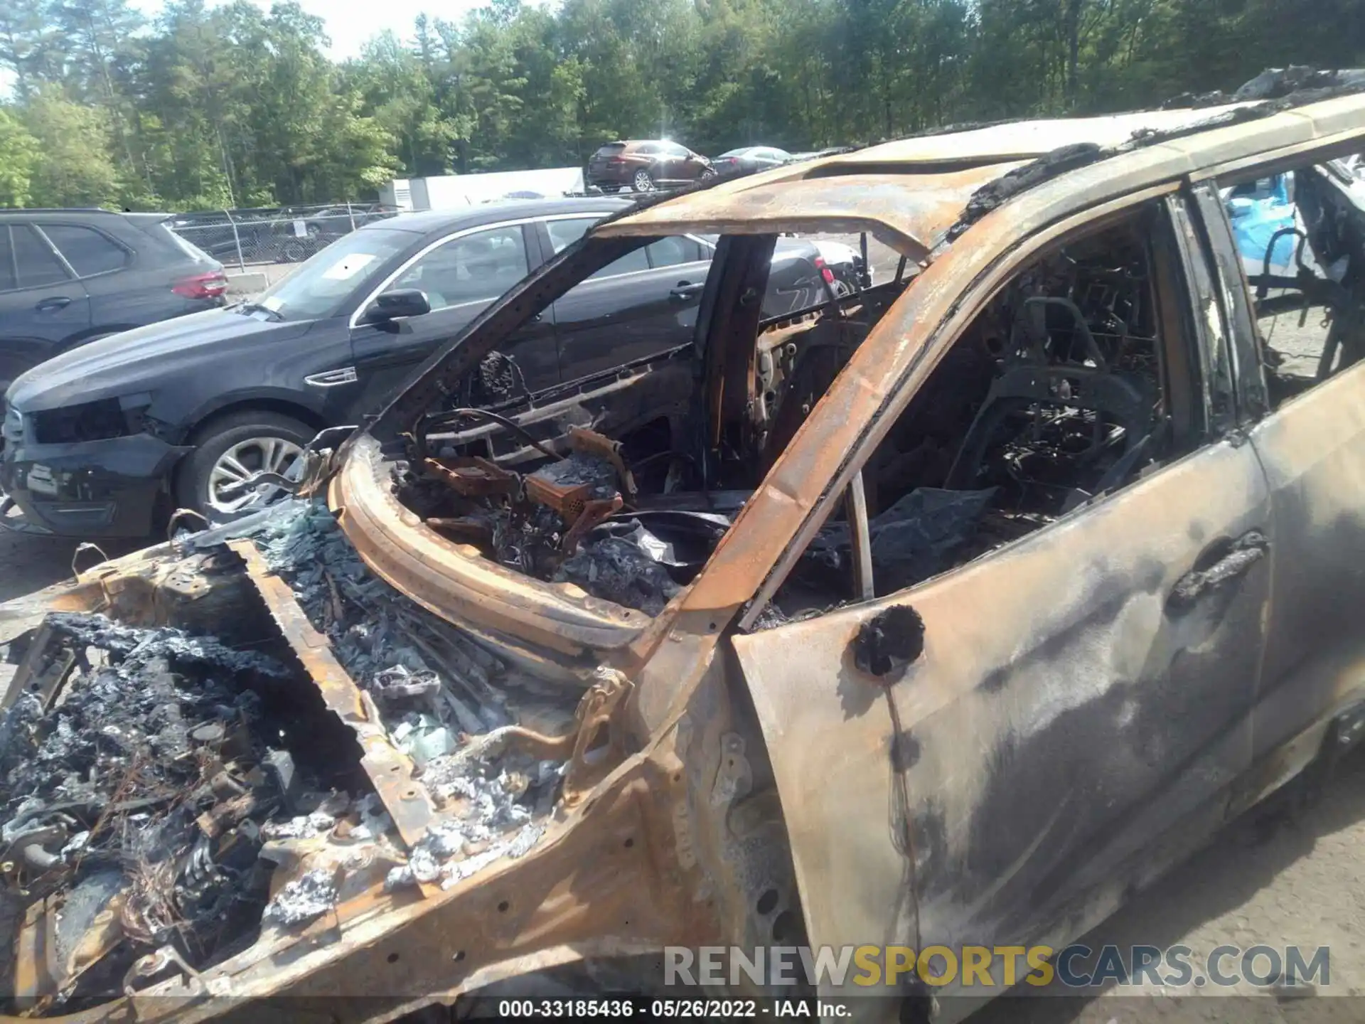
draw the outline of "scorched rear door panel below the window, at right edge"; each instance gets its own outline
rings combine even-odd
[[[1365,685],[1365,363],[1261,421],[1275,591],[1253,750],[1268,754]]]

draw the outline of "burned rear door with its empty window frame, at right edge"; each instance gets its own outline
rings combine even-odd
[[[1334,138],[1294,146],[1254,161],[1213,168],[1196,186],[1204,227],[1224,266],[1234,311],[1239,382],[1250,400],[1264,399],[1263,339],[1250,284],[1235,259],[1231,224],[1218,201],[1220,182],[1317,165],[1360,149]],[[1353,255],[1354,258],[1354,255]],[[1310,311],[1309,315],[1316,315]],[[1248,373],[1248,367],[1250,373]],[[1323,751],[1328,724],[1365,700],[1365,639],[1353,609],[1365,601],[1365,363],[1343,366],[1271,410],[1250,410],[1248,440],[1267,474],[1276,543],[1271,552],[1274,593],[1261,685],[1252,720],[1257,770],[1238,806],[1261,799]]]

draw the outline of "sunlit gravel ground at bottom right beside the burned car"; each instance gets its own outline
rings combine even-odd
[[[1162,1021],[1248,1021],[1264,1024],[1346,1024],[1365,1019],[1365,886],[1360,851],[1365,842],[1365,756],[1351,755],[1306,808],[1272,797],[1233,822],[1204,852],[1168,874],[1081,939],[1106,943],[1183,945],[1190,964],[1220,945],[1298,945],[1310,956],[1328,946],[1331,982],[1308,997],[1256,994],[1235,986],[1216,994],[1197,989],[1111,989],[1092,999],[1010,998],[988,1005],[972,1024],[1145,1024]],[[1291,784],[1293,785],[1293,784]],[[1228,961],[1235,964],[1237,961]],[[1263,964],[1264,968],[1264,964]]]

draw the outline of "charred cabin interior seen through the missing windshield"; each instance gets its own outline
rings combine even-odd
[[[689,345],[517,396],[486,359],[392,460],[399,501],[485,558],[659,614],[913,280],[835,287],[777,242],[718,240]]]

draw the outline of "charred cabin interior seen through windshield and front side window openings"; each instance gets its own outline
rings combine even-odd
[[[1069,243],[1003,288],[868,460],[871,593],[913,586],[1133,479],[1173,448],[1145,221]],[[744,306],[677,351],[485,408],[431,410],[389,461],[441,537],[658,616],[890,304],[897,277],[768,319]],[[393,451],[392,448],[388,451]],[[871,593],[835,513],[762,624]]]

